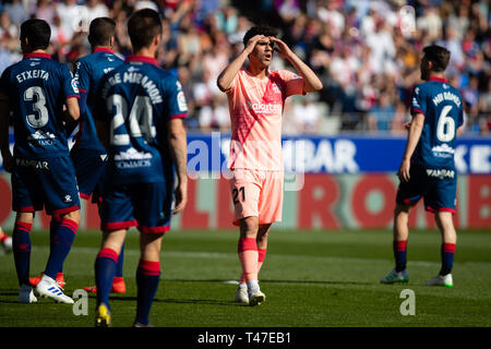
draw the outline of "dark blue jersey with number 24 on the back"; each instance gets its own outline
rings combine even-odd
[[[155,59],[131,56],[105,75],[95,117],[109,129],[107,177],[116,184],[165,181],[168,122],[187,111],[179,81]]]

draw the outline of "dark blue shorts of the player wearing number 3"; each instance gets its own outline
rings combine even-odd
[[[75,170],[70,156],[49,159],[15,158],[12,209],[63,215],[80,208]]]

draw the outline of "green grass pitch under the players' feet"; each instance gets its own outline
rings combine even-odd
[[[44,269],[48,233],[35,231],[31,274]],[[422,284],[440,269],[440,236],[411,231],[408,285],[379,284],[393,267],[392,232],[273,231],[260,275],[266,302],[243,306],[232,302],[239,262],[237,231],[171,231],[164,238],[163,276],[152,309],[156,326],[490,326],[491,233],[460,231],[454,264],[454,287]],[[64,266],[67,293],[94,284],[97,231],[80,231]],[[139,238],[127,240],[124,276],[128,292],[111,297],[113,326],[130,326],[135,313],[135,266]],[[0,326],[93,326],[95,297],[88,315],[72,306],[39,299],[17,303],[11,254],[0,256]],[[403,289],[416,294],[416,315],[399,312]]]

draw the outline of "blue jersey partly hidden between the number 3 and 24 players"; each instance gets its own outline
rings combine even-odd
[[[80,117],[80,127],[75,135],[74,147],[104,151],[95,128],[94,104],[104,74],[107,74],[123,62],[112,50],[96,48],[93,53],[81,58],[75,63],[74,77],[80,93],[86,95],[86,107]]]

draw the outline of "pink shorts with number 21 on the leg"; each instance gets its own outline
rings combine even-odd
[[[260,225],[282,220],[283,171],[235,169],[230,179],[233,225],[255,216]]]

